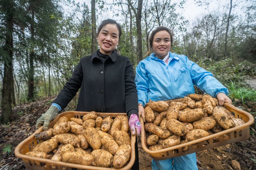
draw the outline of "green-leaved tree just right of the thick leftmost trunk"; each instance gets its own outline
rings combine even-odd
[[[48,63],[49,56],[45,51],[56,51],[56,36],[59,18],[62,17],[58,1],[55,0],[33,0],[27,2],[27,29],[29,30],[27,80],[28,100],[34,100],[36,64]]]

